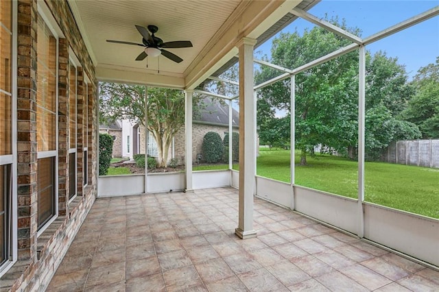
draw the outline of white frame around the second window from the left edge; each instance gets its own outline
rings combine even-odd
[[[60,27],[58,27],[58,24],[56,23],[56,20],[54,18],[54,16],[51,14],[51,11],[49,10],[49,8],[47,7],[47,4],[44,1],[37,1],[37,6],[38,6],[38,14],[41,16],[41,19],[43,19],[43,21],[45,22],[45,24],[47,25],[47,27],[49,28],[51,34],[54,36],[54,38],[56,39],[56,76],[55,76],[55,99],[56,99],[56,133],[58,133],[58,81],[59,81],[59,39],[64,37],[64,34],[62,34],[62,31],[60,29]],[[38,45],[38,44],[37,44]],[[38,86],[38,84],[37,84]],[[56,218],[58,218],[59,212],[58,212],[58,135],[56,135],[55,138],[55,145],[56,145],[56,149],[55,150],[51,150],[51,151],[40,151],[37,152],[37,159],[39,158],[48,158],[48,157],[55,157],[55,214],[54,216],[47,221],[43,226],[41,226],[40,230],[38,230],[37,232],[37,237],[40,236],[41,234],[43,234],[43,232],[45,232],[45,230],[47,229],[47,227],[50,226],[51,223],[53,223]]]

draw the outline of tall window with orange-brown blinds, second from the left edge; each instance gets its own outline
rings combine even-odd
[[[38,230],[56,216],[57,40],[38,14],[36,126],[38,144]]]

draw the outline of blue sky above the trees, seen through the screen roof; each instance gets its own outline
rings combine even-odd
[[[345,19],[348,27],[359,27],[362,30],[361,37],[365,38],[438,5],[439,0],[322,0],[308,12],[319,19],[325,14],[329,19],[331,16]],[[301,33],[306,27],[311,29],[314,25],[304,19],[297,19],[282,32],[294,32],[297,29]],[[272,39],[256,49],[260,51],[256,57],[261,54],[270,56],[271,47]],[[405,65],[411,79],[421,66],[436,62],[439,56],[439,16],[378,40],[367,45],[366,49],[372,53],[385,51],[387,56],[397,57],[399,64]]]

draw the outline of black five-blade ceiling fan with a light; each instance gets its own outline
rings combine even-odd
[[[176,48],[187,48],[192,47],[192,42],[190,40],[176,40],[174,42],[163,42],[161,38],[154,36],[154,34],[158,31],[158,27],[156,25],[148,25],[147,29],[143,26],[136,25],[137,30],[143,36],[142,42],[143,44],[139,44],[137,42],[124,42],[122,40],[107,40],[107,42],[115,42],[117,44],[126,44],[126,45],[136,45],[145,47],[144,51],[142,51],[139,56],[137,56],[136,61],[144,60],[147,56],[157,57],[159,55],[163,55],[169,60],[180,63],[183,59],[178,57],[176,54],[171,53],[165,49],[176,49]],[[148,30],[151,32],[148,32]]]

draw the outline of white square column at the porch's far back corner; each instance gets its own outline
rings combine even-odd
[[[193,90],[185,90],[185,165],[186,165],[186,188],[185,192],[193,192],[192,188],[192,96]]]

